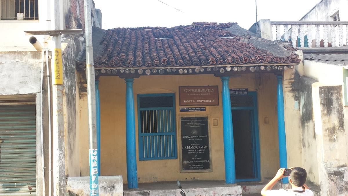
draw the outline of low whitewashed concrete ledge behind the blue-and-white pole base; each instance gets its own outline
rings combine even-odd
[[[70,196],[89,196],[89,176],[67,178],[66,191]],[[122,176],[99,176],[99,195],[122,196]]]

